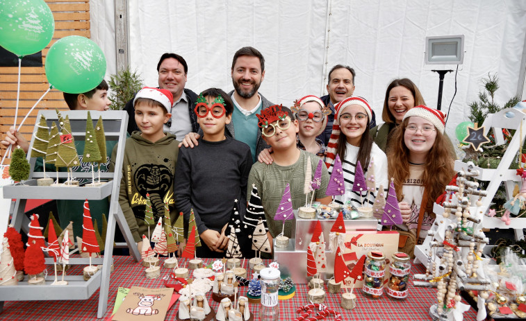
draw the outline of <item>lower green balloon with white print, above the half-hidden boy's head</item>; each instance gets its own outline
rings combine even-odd
[[[106,58],[92,40],[70,35],[51,46],[44,68],[50,85],[62,92],[81,94],[101,83]]]

